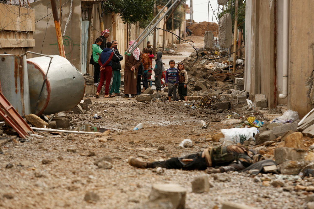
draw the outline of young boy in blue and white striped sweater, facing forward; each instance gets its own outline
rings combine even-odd
[[[170,68],[166,70],[165,83],[166,83],[166,86],[168,86],[169,102],[171,101],[172,94],[173,94],[173,101],[176,101],[176,88],[179,82],[179,72],[178,72],[178,69],[175,68],[175,64],[176,63],[174,60],[170,60],[169,61]]]

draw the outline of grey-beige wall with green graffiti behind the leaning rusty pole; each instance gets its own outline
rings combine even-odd
[[[62,21],[61,31],[64,32],[68,14],[70,13],[71,1],[61,0],[62,6]],[[59,55],[57,46],[57,35],[52,16],[50,0],[41,0],[31,3],[31,7],[35,9],[35,27],[36,31],[33,34],[35,39],[34,52]],[[59,7],[58,7],[59,8]],[[60,13],[60,9],[58,9]],[[60,15],[60,14],[59,14]],[[63,44],[66,53],[66,58],[78,70],[81,70],[81,1],[73,1],[72,15],[68,23],[68,27],[63,37]]]

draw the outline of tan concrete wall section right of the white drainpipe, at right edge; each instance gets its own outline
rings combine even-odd
[[[288,108],[303,117],[313,108],[314,4],[290,0]]]

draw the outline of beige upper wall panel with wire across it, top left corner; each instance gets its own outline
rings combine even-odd
[[[35,10],[0,3],[0,28],[35,31]]]

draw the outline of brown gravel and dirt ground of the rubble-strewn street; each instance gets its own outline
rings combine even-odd
[[[196,45],[202,46],[201,37],[192,38],[197,40]],[[185,45],[178,48],[184,56],[165,56],[164,62],[170,58],[181,61],[191,52],[191,48]],[[155,169],[136,169],[128,165],[129,156],[144,161],[160,160],[219,144],[206,139],[221,128],[235,126],[217,122],[226,119],[231,112],[216,113],[204,108],[192,110],[184,102],[142,103],[120,97],[92,98],[92,102],[90,110],[84,114],[69,115],[71,125],[107,128],[111,130],[110,135],[37,132],[44,137],[30,137],[24,143],[13,140],[1,147],[0,208],[134,208],[148,201],[154,183],[176,183],[186,188],[188,209],[213,208],[221,206],[224,201],[257,208],[305,207],[304,199],[309,193],[263,186],[262,182],[254,182],[254,176],[246,173],[231,172],[228,174],[230,181],[220,182],[204,171],[170,169],[158,175]],[[95,113],[102,118],[93,119]],[[200,120],[211,123],[207,129],[201,129]],[[144,124],[143,129],[132,131],[138,123]],[[185,138],[190,138],[194,147],[178,148]],[[95,159],[103,156],[112,158],[112,169],[99,169],[94,165]],[[13,167],[6,168],[8,163]],[[199,175],[208,176],[213,185],[210,192],[192,193],[191,181]],[[275,180],[283,176],[269,174],[260,178]],[[292,177],[287,178],[284,180],[286,186],[292,184],[289,179]],[[311,182],[305,180],[303,184]],[[100,200],[95,203],[84,201],[87,191],[97,193]]]

